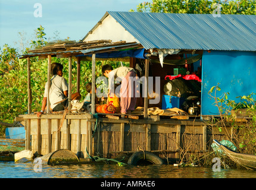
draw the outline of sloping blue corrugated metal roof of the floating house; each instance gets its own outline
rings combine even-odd
[[[145,49],[256,51],[256,16],[108,11]]]

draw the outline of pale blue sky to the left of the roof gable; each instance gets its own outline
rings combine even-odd
[[[46,40],[79,41],[107,11],[136,11],[143,0],[0,0],[0,47],[29,47],[42,25]]]

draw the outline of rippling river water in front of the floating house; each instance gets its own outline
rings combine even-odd
[[[35,172],[33,163],[0,162],[0,178],[256,178],[256,171],[173,165],[118,166],[115,164],[73,164],[42,166]]]

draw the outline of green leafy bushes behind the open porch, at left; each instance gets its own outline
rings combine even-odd
[[[30,47],[21,52],[26,54],[27,50],[35,49],[48,43],[46,34],[42,26],[36,31],[36,39],[31,40]],[[65,39],[67,41],[68,39]],[[0,121],[13,123],[15,116],[27,112],[27,59],[18,59],[18,49],[4,45],[0,49]],[[34,57],[31,61],[31,87],[32,87],[32,112],[40,110],[45,83],[47,81],[48,60]],[[52,58],[52,62],[63,64],[64,78],[68,81],[68,59]],[[101,68],[104,64],[111,64],[113,68],[120,66],[120,62],[113,61],[96,61],[96,77],[102,75]],[[124,65],[129,63],[123,63]],[[82,99],[85,98],[87,91],[85,84],[92,81],[92,62],[81,61],[80,76],[80,93]],[[72,93],[76,92],[76,60],[72,62]],[[4,134],[5,126],[0,125],[0,136]]]

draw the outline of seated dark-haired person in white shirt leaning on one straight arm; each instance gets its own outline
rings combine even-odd
[[[49,90],[49,101],[51,103],[51,109],[54,112],[64,110],[67,107],[67,97],[68,97],[68,83],[67,80],[63,77],[63,65],[59,63],[51,64],[51,87]],[[47,94],[48,94],[48,83],[45,84],[45,93],[43,95],[42,108],[40,112],[37,113],[37,116],[43,114],[46,103],[47,103]],[[72,100],[80,100],[80,93],[74,93],[71,95]],[[64,100],[65,99],[65,100]],[[61,102],[64,100],[63,102]],[[61,103],[58,103],[61,102]],[[57,104],[58,103],[58,104]]]

